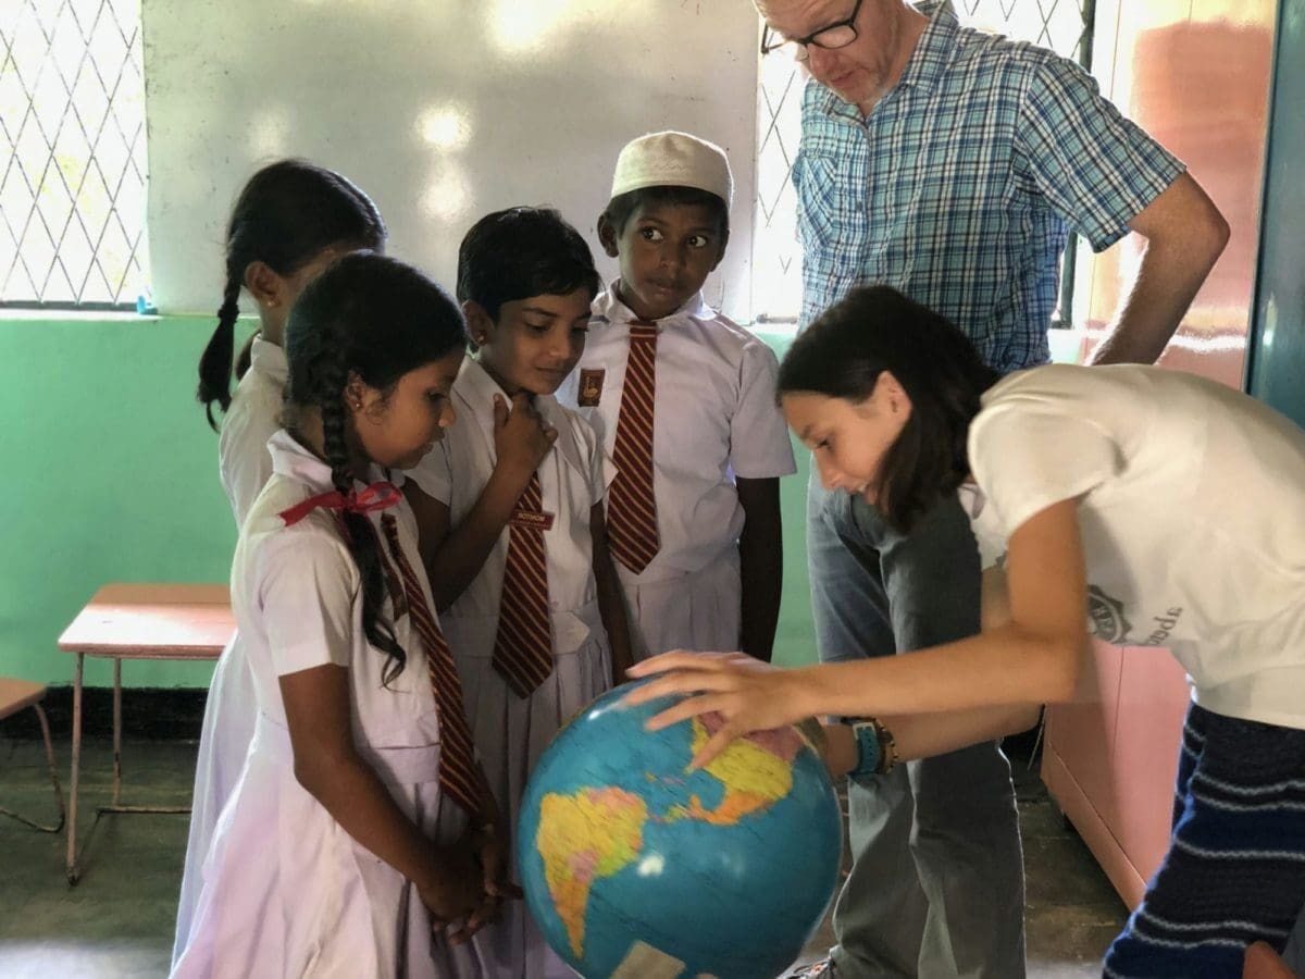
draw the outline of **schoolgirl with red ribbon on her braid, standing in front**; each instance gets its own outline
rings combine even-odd
[[[172,974],[495,975],[476,932],[519,892],[390,482],[454,422],[462,316],[358,252],[286,341],[286,428],[231,576],[257,728]]]

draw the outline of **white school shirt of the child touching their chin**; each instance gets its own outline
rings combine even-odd
[[[475,506],[493,473],[497,454],[493,443],[493,396],[504,393],[472,358],[462,362],[453,384],[453,407],[458,420],[444,440],[405,475],[416,480],[427,496],[449,508],[449,525],[457,526]],[[544,531],[548,556],[548,604],[553,614],[553,651],[566,653],[602,628],[598,615],[598,585],[594,580],[594,543],[590,510],[602,503],[616,475],[616,466],[603,453],[594,431],[551,396],[536,396],[535,410],[557,429],[557,441],[539,466],[539,488],[545,513],[553,525]],[[463,629],[458,620],[497,621],[502,578],[508,564],[510,527],[504,527],[480,572],[448,608],[449,642],[458,655],[476,651],[467,642],[493,644],[495,629]],[[454,638],[459,642],[454,644]],[[474,638],[472,638],[474,637]]]

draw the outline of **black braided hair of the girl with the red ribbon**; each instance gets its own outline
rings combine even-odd
[[[457,303],[410,265],[375,252],[352,252],[333,262],[304,288],[286,325],[287,415],[296,407],[321,411],[324,454],[331,483],[354,488],[345,388],[358,375],[389,394],[399,379],[465,347]],[[363,630],[389,655],[386,683],[407,662],[394,630],[380,617],[385,565],[380,542],[364,514],[343,513],[346,542],[363,581]]]

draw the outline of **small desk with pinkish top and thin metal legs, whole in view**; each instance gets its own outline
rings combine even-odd
[[[106,585],[94,594],[59,637],[59,649],[76,655],[73,667],[72,786],[68,803],[68,882],[81,877],[77,851],[77,788],[81,770],[82,667],[86,657],[114,660],[114,801],[106,812],[189,812],[189,807],[121,805],[123,660],[217,659],[235,633],[226,585]],[[94,824],[91,825],[94,833]]]

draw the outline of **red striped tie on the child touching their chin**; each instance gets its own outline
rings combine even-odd
[[[552,616],[548,611],[548,565],[544,556],[544,497],[539,474],[517,500],[502,573],[499,634],[493,663],[512,692],[529,697],[553,671]]]

